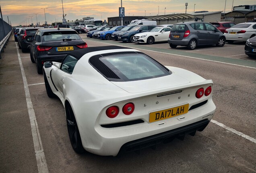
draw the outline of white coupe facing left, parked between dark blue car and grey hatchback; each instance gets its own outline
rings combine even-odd
[[[153,44],[154,42],[166,41],[169,38],[170,27],[155,27],[148,32],[141,32],[133,36],[133,41],[138,43]]]

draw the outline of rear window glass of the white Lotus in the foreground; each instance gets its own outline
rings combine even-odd
[[[100,58],[123,81],[143,80],[170,73],[145,54],[119,54]]]

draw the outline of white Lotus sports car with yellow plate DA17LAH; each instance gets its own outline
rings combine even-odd
[[[43,75],[77,153],[116,156],[194,136],[216,109],[212,80],[120,46],[74,50],[62,63],[45,62]]]

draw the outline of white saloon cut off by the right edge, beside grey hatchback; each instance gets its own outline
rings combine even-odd
[[[228,43],[233,43],[234,41],[244,41],[256,36],[256,23],[246,22],[236,24],[231,28],[225,30],[224,35],[226,36],[226,41]]]

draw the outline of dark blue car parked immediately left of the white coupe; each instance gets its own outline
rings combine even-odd
[[[137,25],[129,31],[124,31],[118,34],[118,41],[133,42],[133,36],[140,32],[147,32],[155,28],[155,25]]]

